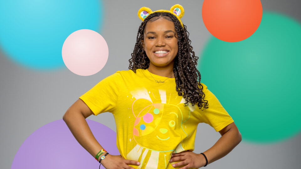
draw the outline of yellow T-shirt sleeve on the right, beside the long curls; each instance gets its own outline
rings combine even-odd
[[[207,109],[200,109],[199,117],[200,123],[207,123],[214,128],[215,131],[220,131],[227,125],[234,122],[232,117],[221,105],[215,95],[204,85],[205,97],[204,100],[208,100]],[[203,111],[202,111],[203,110]]]

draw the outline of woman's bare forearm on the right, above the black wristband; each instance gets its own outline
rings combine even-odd
[[[238,130],[229,130],[207,151],[203,152],[207,157],[208,164],[226,156],[241,141],[241,135]],[[201,156],[203,156],[201,154]]]

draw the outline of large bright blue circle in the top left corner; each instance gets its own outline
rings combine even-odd
[[[66,68],[62,46],[80,29],[100,32],[102,1],[0,1],[0,47],[6,56],[29,69]]]

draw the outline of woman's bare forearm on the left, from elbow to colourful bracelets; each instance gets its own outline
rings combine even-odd
[[[63,117],[71,133],[78,141],[78,143],[85,148],[93,157],[101,150],[103,147],[98,143],[89,128],[86,119],[78,110],[67,110]]]

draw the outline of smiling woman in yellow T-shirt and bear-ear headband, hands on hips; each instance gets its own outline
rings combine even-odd
[[[179,4],[170,11],[141,8],[138,16],[143,22],[129,70],[101,80],[63,116],[77,141],[107,169],[199,168],[222,158],[241,141],[234,120],[200,83],[198,57],[180,20],[183,14]],[[103,150],[85,120],[103,112],[114,115],[119,156]],[[193,152],[199,123],[221,134],[201,154]]]

